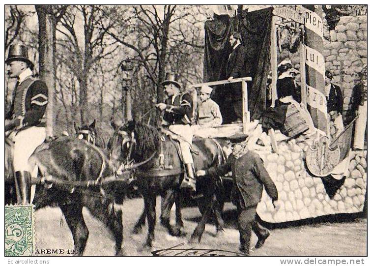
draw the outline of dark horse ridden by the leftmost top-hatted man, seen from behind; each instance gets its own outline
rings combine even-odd
[[[7,184],[14,182],[10,159],[12,149],[12,142],[5,141]],[[61,137],[37,148],[29,159],[29,165],[31,168],[37,165],[39,175],[45,179],[44,183],[36,184],[35,209],[60,207],[71,230],[75,249],[79,251],[75,255],[83,255],[89,235],[83,206],[109,228],[115,239],[115,255],[123,255],[122,211],[115,209],[114,197],[110,194],[114,183],[105,182],[114,177],[109,160],[102,151],[86,141]],[[14,202],[15,193],[11,192],[6,195],[5,204]]]

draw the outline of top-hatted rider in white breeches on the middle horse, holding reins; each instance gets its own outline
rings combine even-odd
[[[179,144],[187,175],[182,180],[181,188],[196,191],[194,161],[190,152],[190,146],[193,141],[193,131],[191,129],[191,119],[193,116],[192,97],[187,92],[180,92],[181,84],[178,83],[177,73],[167,73],[162,85],[168,98],[165,103],[158,103],[156,107],[161,111],[165,111],[163,120],[169,126],[169,130],[181,136]]]

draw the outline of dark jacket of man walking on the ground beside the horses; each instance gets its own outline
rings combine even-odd
[[[226,164],[209,168],[207,175],[223,176],[232,171],[234,188],[236,190],[235,203],[240,207],[254,207],[261,201],[262,189],[265,186],[267,194],[273,200],[278,200],[278,191],[267,173],[262,159],[256,152],[248,151],[240,158],[230,154]]]

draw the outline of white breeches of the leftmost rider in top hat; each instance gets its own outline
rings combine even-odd
[[[45,127],[31,126],[25,130],[21,130],[13,138],[14,141],[14,171],[28,171],[29,157],[35,149],[41,145],[46,137]]]

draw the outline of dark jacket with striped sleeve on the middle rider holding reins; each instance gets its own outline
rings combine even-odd
[[[189,93],[179,93],[175,96],[173,103],[172,97],[169,97],[165,103],[167,104],[167,108],[165,109],[163,119],[170,125],[191,124],[193,100]]]

